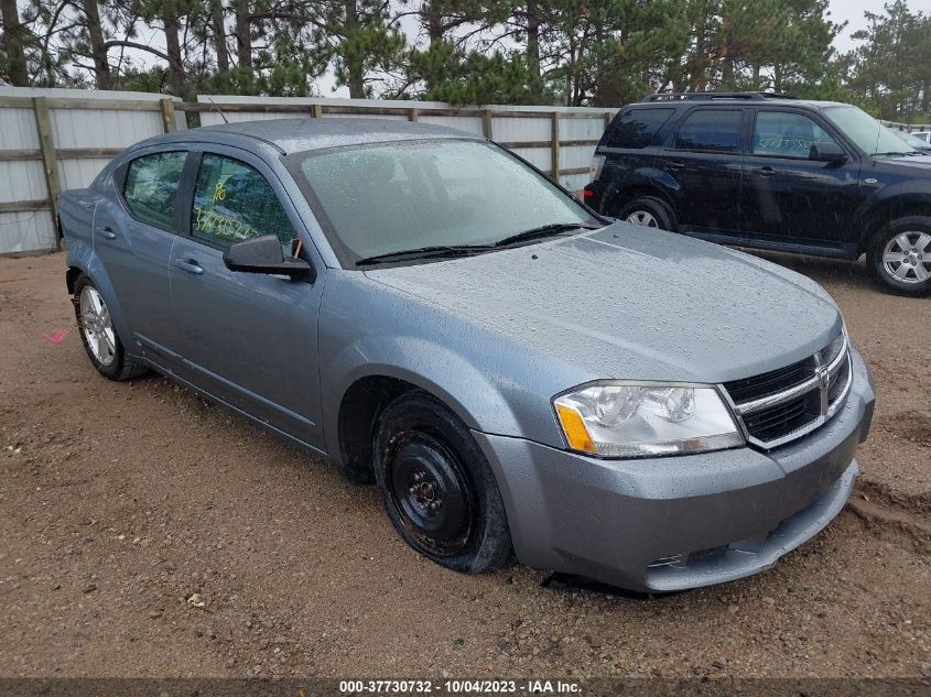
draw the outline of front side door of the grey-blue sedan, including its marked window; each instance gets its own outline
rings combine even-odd
[[[248,153],[203,153],[185,232],[175,240],[170,266],[182,377],[323,447],[316,327],[325,275],[292,281],[234,272],[223,261],[239,240],[277,235],[290,254],[300,236],[302,255],[323,269],[278,178]]]

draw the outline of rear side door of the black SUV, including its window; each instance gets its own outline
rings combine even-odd
[[[734,233],[741,228],[741,107],[697,107],[680,121],[657,155],[670,182],[683,232]]]

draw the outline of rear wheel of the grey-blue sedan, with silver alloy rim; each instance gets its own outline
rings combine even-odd
[[[107,303],[87,274],[82,273],[75,280],[73,302],[80,341],[97,372],[110,380],[123,381],[149,370],[144,363],[127,356]]]

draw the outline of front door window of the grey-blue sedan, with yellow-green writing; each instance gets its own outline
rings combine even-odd
[[[296,237],[266,177],[238,160],[210,153],[204,153],[197,173],[191,235],[221,248],[277,235],[285,254]]]

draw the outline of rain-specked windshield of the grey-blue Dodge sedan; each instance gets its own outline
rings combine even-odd
[[[294,157],[344,266],[425,248],[487,251],[528,230],[559,226],[552,233],[564,233],[597,224],[546,177],[484,141],[407,141]]]

